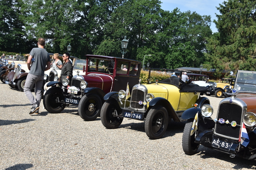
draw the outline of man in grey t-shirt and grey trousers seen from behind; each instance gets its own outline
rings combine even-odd
[[[38,48],[33,48],[28,56],[28,76],[24,85],[24,93],[30,101],[32,107],[29,114],[39,113],[39,106],[42,98],[42,84],[44,81],[44,71],[50,69],[50,55],[44,49],[45,39],[38,39]],[[36,98],[33,96],[31,90],[35,85]]]

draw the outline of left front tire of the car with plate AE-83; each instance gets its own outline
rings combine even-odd
[[[195,135],[198,133],[198,131],[196,131],[193,135],[190,135],[193,122],[194,119],[188,119],[182,135],[182,149],[188,155],[195,154],[200,145],[199,143],[194,143]]]

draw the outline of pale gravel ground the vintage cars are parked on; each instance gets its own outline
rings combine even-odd
[[[0,83],[0,169],[256,169],[255,161],[200,145],[195,155],[182,150],[185,123],[170,122],[162,139],[148,139],[144,122],[124,119],[106,129],[100,118],[84,121],[77,106],[51,114],[29,115],[23,92]],[[221,98],[208,97],[217,112]]]

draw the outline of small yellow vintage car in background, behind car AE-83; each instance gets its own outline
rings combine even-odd
[[[233,88],[235,80],[235,78],[222,78],[219,82],[210,84],[206,95],[215,95],[216,98],[221,98],[226,88]]]

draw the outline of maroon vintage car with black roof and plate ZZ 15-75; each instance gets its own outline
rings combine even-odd
[[[69,104],[78,105],[80,117],[92,121],[100,115],[106,93],[132,87],[139,80],[141,63],[139,61],[86,55],[86,75],[74,75],[69,82],[49,82],[44,95],[44,107],[50,113],[59,113]]]

